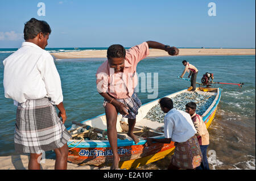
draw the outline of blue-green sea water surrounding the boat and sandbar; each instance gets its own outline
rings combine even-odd
[[[88,48],[88,50],[97,48]],[[106,48],[100,48],[106,49]],[[16,49],[0,49],[0,156],[14,155],[14,125],[16,107],[6,99],[3,89],[2,61]],[[56,48],[48,51],[78,50]],[[157,98],[187,89],[190,82],[177,78],[187,60],[199,69],[197,82],[206,72],[214,74],[214,81],[236,85],[216,85],[222,89],[218,109],[208,131],[210,169],[255,169],[255,56],[175,56],[145,58],[137,66],[138,73],[158,73]],[[72,121],[83,121],[104,113],[103,98],[96,90],[96,71],[104,58],[57,60],[67,111],[65,126]],[[188,73],[184,75],[187,78]],[[153,85],[153,81],[152,81]],[[142,103],[150,102],[152,92],[139,91]],[[166,169],[170,157],[139,167],[139,169]]]

